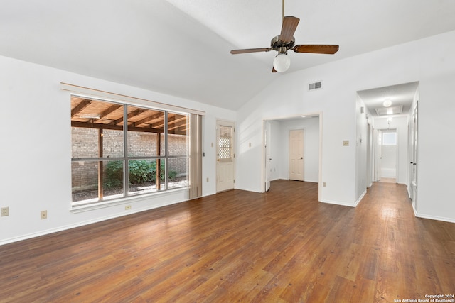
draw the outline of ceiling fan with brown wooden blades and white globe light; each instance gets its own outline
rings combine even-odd
[[[291,60],[287,55],[288,50],[294,50],[295,53],[316,53],[316,54],[334,54],[338,51],[338,45],[314,45],[314,44],[298,44],[294,45],[294,33],[299,18],[294,16],[284,16],[284,0],[283,0],[283,24],[282,32],[272,38],[269,48],[247,48],[243,50],[231,50],[231,54],[258,53],[269,52],[276,50],[278,55],[273,60],[272,72],[286,72],[291,65]]]

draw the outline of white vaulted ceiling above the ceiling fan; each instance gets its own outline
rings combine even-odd
[[[296,44],[338,44],[335,55],[291,52],[289,72],[455,30],[453,0],[287,0]],[[0,55],[239,109],[282,77],[269,47],[281,0],[2,0]]]

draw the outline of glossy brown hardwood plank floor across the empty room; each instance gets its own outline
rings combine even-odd
[[[398,302],[455,294],[455,224],[277,180],[0,246],[0,302]],[[449,203],[449,202],[448,202]]]

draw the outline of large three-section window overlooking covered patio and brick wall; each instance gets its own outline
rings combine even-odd
[[[188,114],[72,95],[71,126],[74,206],[188,187]]]

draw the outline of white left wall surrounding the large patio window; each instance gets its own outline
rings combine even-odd
[[[0,57],[0,206],[9,206],[9,216],[0,217],[0,244],[188,199],[188,191],[179,190],[72,213],[70,97],[60,82],[205,111],[203,195],[215,194],[210,142],[216,119],[235,121],[234,111]],[[131,211],[125,211],[127,203]],[[42,210],[48,219],[40,219]]]

